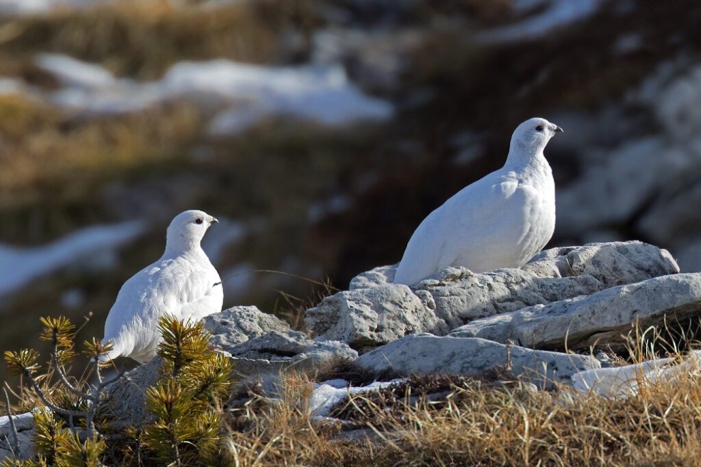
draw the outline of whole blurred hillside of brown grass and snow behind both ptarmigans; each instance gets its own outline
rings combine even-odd
[[[551,246],[701,270],[700,52],[695,0],[0,0],[0,350],[101,337],[184,209],[225,306],[346,288],[532,116],[565,130]]]

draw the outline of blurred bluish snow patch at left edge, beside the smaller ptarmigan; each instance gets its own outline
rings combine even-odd
[[[0,296],[28,286],[34,279],[70,265],[104,265],[107,256],[145,230],[144,223],[128,221],[94,225],[72,232],[50,244],[20,248],[0,244]]]

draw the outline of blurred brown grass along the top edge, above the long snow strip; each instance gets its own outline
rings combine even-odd
[[[0,74],[41,78],[35,53],[65,53],[98,62],[120,76],[152,79],[179,60],[228,57],[277,62],[279,34],[318,23],[313,2],[261,0],[217,7],[174,6],[166,0],[114,5],[0,22]]]

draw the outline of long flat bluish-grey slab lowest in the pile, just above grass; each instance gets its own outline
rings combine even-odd
[[[360,356],[353,365],[372,375],[482,375],[503,368],[510,354],[511,370],[543,387],[569,382],[571,375],[600,368],[596,358],[524,349],[472,337],[418,334],[403,337]]]

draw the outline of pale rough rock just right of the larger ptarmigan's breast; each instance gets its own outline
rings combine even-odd
[[[541,251],[522,267],[538,277],[588,275],[606,287],[676,274],[669,251],[643,242],[593,243]],[[557,276],[556,276],[557,277]]]

